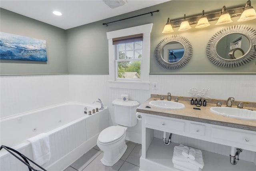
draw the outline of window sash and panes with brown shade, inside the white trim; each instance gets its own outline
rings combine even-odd
[[[115,80],[141,80],[142,40],[143,34],[113,39],[116,52]]]

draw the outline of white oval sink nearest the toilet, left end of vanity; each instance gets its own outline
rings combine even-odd
[[[185,105],[179,102],[167,101],[167,100],[152,100],[149,102],[151,107],[155,107],[158,109],[185,109]]]

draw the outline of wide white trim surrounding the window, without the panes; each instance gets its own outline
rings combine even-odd
[[[125,28],[121,30],[115,30],[112,32],[107,32],[108,38],[108,58],[109,58],[109,87],[112,88],[126,88],[126,89],[144,89],[149,90],[149,71],[150,71],[150,33],[152,30],[153,23],[144,24],[141,26],[135,26],[131,28]],[[128,81],[128,80],[116,80],[115,71],[115,60],[116,60],[116,50],[115,45],[113,45],[113,38],[130,36],[135,34],[143,34],[142,41],[142,60],[141,60],[141,79],[140,81]]]

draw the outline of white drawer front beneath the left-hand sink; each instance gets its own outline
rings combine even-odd
[[[175,121],[175,120],[162,119],[157,117],[146,117],[146,124],[175,129],[178,131],[185,130],[185,122],[183,121]]]

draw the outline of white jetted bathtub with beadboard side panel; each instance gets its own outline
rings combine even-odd
[[[88,115],[88,112],[85,114],[84,107],[87,107],[87,111],[100,108],[98,105],[70,101],[3,118],[0,123],[0,143],[33,160],[32,147],[27,139],[47,133],[51,159],[42,167],[48,171],[64,170],[94,147],[99,133],[109,126],[107,107],[92,115]],[[28,171],[28,167],[2,149],[0,170]]]

